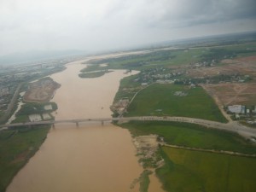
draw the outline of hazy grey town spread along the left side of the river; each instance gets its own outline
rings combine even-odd
[[[43,61],[28,61],[16,65],[0,66],[0,119],[4,121],[12,108],[15,108],[15,100],[20,91],[27,88],[27,83],[45,77],[52,73],[61,72],[68,62],[77,60],[78,57],[48,59]],[[15,92],[17,93],[15,96]],[[3,119],[3,117],[5,117]]]

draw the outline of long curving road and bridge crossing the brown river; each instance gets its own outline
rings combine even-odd
[[[32,126],[32,125],[52,125],[63,124],[63,123],[74,123],[79,126],[79,123],[85,122],[100,122],[104,125],[104,122],[118,121],[119,123],[128,122],[131,120],[138,121],[173,121],[173,122],[184,122],[197,125],[203,125],[206,128],[218,129],[223,131],[236,132],[242,137],[250,138],[253,142],[256,142],[256,129],[249,128],[244,125],[240,125],[235,121],[224,124],[216,121],[205,120],[205,119],[195,119],[187,117],[157,117],[157,116],[141,116],[141,117],[119,117],[119,118],[94,118],[94,119],[63,119],[63,120],[49,120],[49,121],[36,121],[36,122],[26,122],[26,123],[16,123],[16,124],[7,124],[0,125],[0,130],[8,127],[15,126]]]

